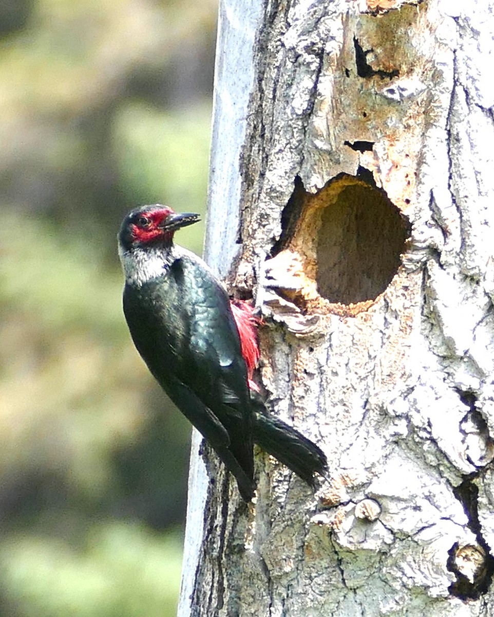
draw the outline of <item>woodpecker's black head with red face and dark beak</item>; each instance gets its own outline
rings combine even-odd
[[[175,231],[198,220],[198,214],[176,213],[166,205],[144,205],[131,210],[124,218],[118,234],[119,245],[125,252],[170,246]]]

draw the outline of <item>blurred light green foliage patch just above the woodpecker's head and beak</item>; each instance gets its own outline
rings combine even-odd
[[[163,200],[176,210],[204,214],[210,116],[205,104],[180,112],[137,103],[121,107],[113,135],[125,193],[135,202]],[[186,235],[188,247],[200,254],[203,225],[194,225]]]

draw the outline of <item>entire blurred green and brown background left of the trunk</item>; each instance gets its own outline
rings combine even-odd
[[[116,233],[204,212],[215,27],[216,0],[0,2],[2,616],[176,613],[190,426],[132,346]]]

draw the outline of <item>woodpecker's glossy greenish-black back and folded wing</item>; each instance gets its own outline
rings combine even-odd
[[[124,313],[150,371],[235,474],[244,497],[251,496],[246,367],[221,284],[185,255],[165,275],[139,288],[126,286]]]

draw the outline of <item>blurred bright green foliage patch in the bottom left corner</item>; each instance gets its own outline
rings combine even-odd
[[[95,524],[82,547],[12,536],[0,573],[9,615],[172,617],[180,586],[180,535],[136,524]]]

